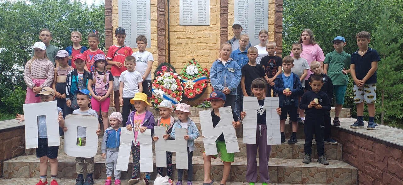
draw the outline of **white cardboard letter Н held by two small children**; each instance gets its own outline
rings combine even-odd
[[[177,169],[187,170],[187,135],[186,128],[175,128],[175,140],[166,140],[162,136],[165,134],[165,127],[154,127],[154,136],[158,137],[155,142],[155,158],[157,167],[166,167],[166,152],[176,152]]]

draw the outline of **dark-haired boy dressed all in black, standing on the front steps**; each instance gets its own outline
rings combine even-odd
[[[305,158],[303,163],[310,163],[312,154],[312,140],[315,134],[316,148],[318,150],[318,162],[328,165],[329,162],[325,157],[324,150],[324,115],[329,112],[330,101],[326,93],[320,91],[323,85],[323,77],[320,75],[313,75],[309,83],[311,90],[305,92],[301,98],[299,108],[305,110]]]

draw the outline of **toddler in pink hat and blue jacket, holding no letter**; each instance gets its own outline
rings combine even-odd
[[[116,170],[118,161],[118,152],[120,146],[120,127],[122,123],[122,114],[120,112],[112,112],[109,116],[110,127],[105,130],[102,139],[101,152],[102,158],[106,158],[106,180],[105,185],[112,184],[112,171],[114,171],[115,185],[120,184],[120,170]]]

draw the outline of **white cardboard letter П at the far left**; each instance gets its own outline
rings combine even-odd
[[[38,119],[46,116],[48,146],[60,146],[59,124],[56,101],[23,104],[25,117],[25,148],[38,147]]]

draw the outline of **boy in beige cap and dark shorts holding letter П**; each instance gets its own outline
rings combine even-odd
[[[50,102],[53,101],[56,96],[55,92],[50,87],[44,87],[36,97],[41,98],[41,102]],[[58,112],[58,122],[59,127],[64,126],[63,113],[61,108],[57,108]],[[17,114],[15,116],[16,120],[24,121],[23,114]],[[48,181],[46,180],[46,173],[48,171],[48,161],[50,163],[50,174],[51,182],[50,185],[58,185],[56,178],[58,172],[58,161],[57,161],[57,153],[59,151],[59,146],[48,146],[48,133],[46,130],[46,116],[38,116],[38,148],[36,148],[36,157],[39,157],[40,165],[39,165],[39,173],[40,179],[39,183],[36,185],[47,185]]]

